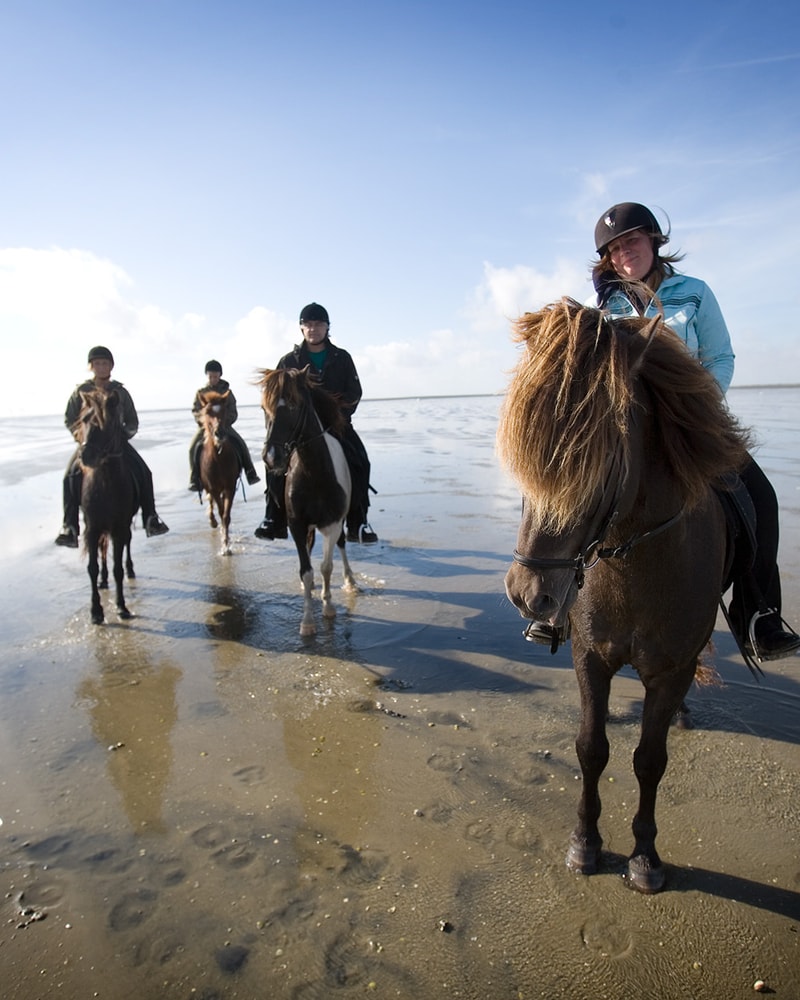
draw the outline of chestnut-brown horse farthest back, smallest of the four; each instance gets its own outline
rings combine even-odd
[[[200,402],[203,404],[200,417],[204,430],[200,446],[200,482],[208,496],[209,524],[212,528],[219,526],[220,529],[222,555],[231,554],[231,507],[242,471],[239,453],[228,434],[229,396],[230,392],[200,393]],[[214,513],[215,506],[219,521]]]

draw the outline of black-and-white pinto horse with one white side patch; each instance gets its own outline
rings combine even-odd
[[[350,507],[350,470],[337,435],[345,428],[345,417],[334,396],[315,385],[308,368],[302,371],[261,369],[261,406],[267,418],[264,463],[285,474],[284,497],[289,531],[300,557],[300,579],[305,607],[301,635],[313,635],[314,571],[311,549],[315,531],[323,537],[322,613],[336,615],[331,601],[333,549],[338,546],[344,571],[344,587],[357,590],[345,551],[342,530]]]

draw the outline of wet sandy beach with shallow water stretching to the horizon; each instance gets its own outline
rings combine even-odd
[[[797,629],[800,390],[729,399],[764,442]],[[800,998],[800,658],[758,683],[718,621],[722,684],[670,734],[650,897],[620,877],[643,693],[623,671],[603,868],[571,873],[578,693],[569,648],[525,642],[504,596],[498,406],[362,404],[381,540],[348,546],[359,592],[337,562],[337,618],[308,638],[292,543],[253,536],[261,487],[220,556],[172,411],[135,441],[171,530],[134,534],[135,617],[106,593],[91,625],[85,560],[53,545],[66,431],[2,421],[4,1000]]]

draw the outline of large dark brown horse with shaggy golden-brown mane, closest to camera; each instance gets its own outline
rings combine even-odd
[[[506,593],[524,618],[571,628],[583,787],[567,864],[592,874],[600,861],[611,679],[631,664],[645,696],[627,877],[658,892],[667,734],[714,628],[726,563],[716,490],[745,465],[748,433],[658,318],[612,321],[563,299],[514,330],[523,352],[497,442],[523,511]]]

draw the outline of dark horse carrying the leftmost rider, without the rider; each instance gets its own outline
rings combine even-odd
[[[113,575],[116,585],[117,613],[131,618],[123,592],[123,561],[128,578],[133,579],[131,559],[131,521],[139,502],[133,477],[123,458],[126,442],[120,419],[120,400],[116,392],[81,393],[81,412],[73,427],[78,441],[78,458],[83,472],[81,509],[83,542],[89,557],[88,572],[92,585],[92,622],[104,620],[100,586],[108,583],[106,555],[108,541],[113,548]],[[101,570],[102,565],[102,570]]]

